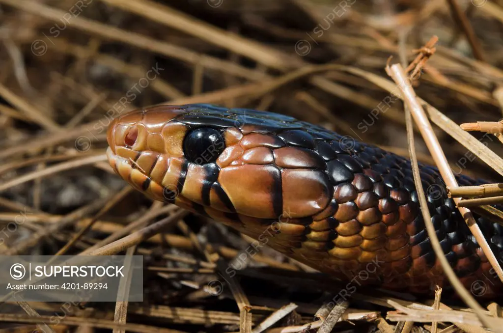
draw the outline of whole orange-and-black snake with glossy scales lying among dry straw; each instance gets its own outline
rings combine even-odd
[[[131,111],[111,121],[107,141],[110,165],[134,189],[250,236],[257,251],[267,245],[348,285],[452,290],[408,158],[287,115],[210,104]],[[438,169],[419,170],[452,269],[475,296],[501,295]],[[500,260],[503,227],[474,217]]]

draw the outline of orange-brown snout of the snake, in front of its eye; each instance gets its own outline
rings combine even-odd
[[[112,169],[148,197],[175,202],[185,169],[182,142],[186,126],[172,120],[180,108],[135,110],[114,119],[107,130]]]

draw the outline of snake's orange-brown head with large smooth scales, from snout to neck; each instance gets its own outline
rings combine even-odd
[[[333,189],[314,140],[287,116],[156,106],[108,129],[112,168],[138,191],[223,221],[320,213]]]

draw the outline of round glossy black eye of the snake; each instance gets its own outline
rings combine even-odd
[[[184,154],[190,162],[200,165],[214,162],[224,149],[224,139],[213,128],[198,128],[185,136]]]

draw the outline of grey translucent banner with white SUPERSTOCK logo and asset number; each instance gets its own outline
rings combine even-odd
[[[143,301],[142,256],[0,256],[0,301]]]

